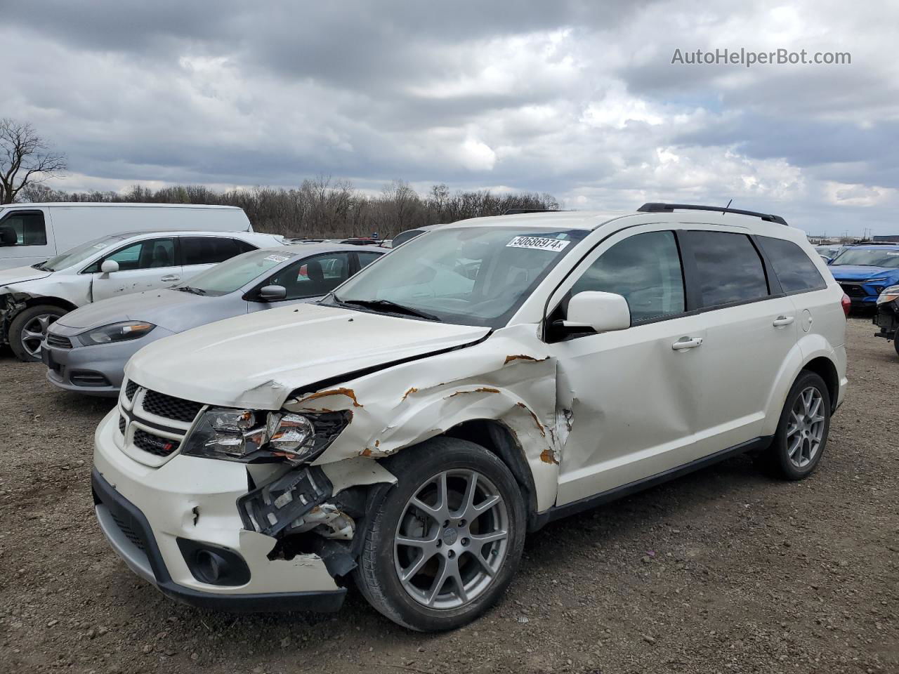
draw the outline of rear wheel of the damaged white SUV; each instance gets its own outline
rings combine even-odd
[[[808,404],[814,412],[810,418],[806,414]],[[821,463],[830,429],[831,396],[827,385],[814,372],[803,370],[790,387],[774,440],[761,457],[763,466],[783,480],[805,479]]]

